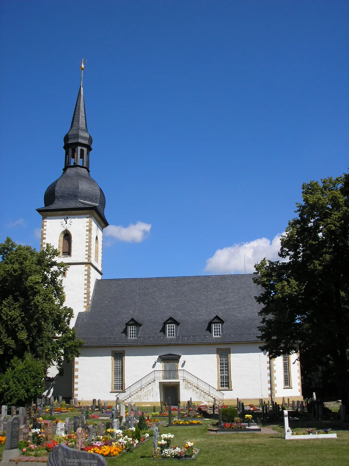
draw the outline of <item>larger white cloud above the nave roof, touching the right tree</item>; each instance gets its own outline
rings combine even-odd
[[[285,233],[281,233],[285,234]],[[268,238],[248,241],[247,243],[234,244],[233,246],[217,249],[215,254],[206,260],[205,270],[220,273],[241,273],[245,272],[244,255],[246,263],[246,273],[255,272],[254,265],[260,262],[263,257],[269,260],[281,260],[277,253],[280,251],[280,236],[277,234],[270,242]]]

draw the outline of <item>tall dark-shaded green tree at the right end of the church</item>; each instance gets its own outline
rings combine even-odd
[[[261,340],[271,357],[300,350],[308,367],[325,365],[349,407],[349,175],[302,185],[279,256],[262,260]],[[301,356],[302,359],[302,356]]]

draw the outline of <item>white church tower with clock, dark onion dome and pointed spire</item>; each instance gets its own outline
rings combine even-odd
[[[94,282],[102,277],[103,229],[106,200],[90,177],[92,137],[87,131],[81,62],[81,82],[70,130],[64,137],[63,173],[48,186],[42,216],[41,248],[48,243],[59,250],[59,259],[69,264],[62,277],[65,304],[74,310],[71,325],[79,312],[88,311]]]

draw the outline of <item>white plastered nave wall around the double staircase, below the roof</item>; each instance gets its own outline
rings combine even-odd
[[[224,399],[236,399],[236,397],[240,399],[267,398],[267,356],[260,351],[258,343],[234,343],[230,345],[83,347],[80,357],[76,359],[78,363],[76,366],[78,367],[78,399],[80,401],[89,401],[93,398],[115,399],[117,393],[111,391],[112,351],[125,351],[125,388],[153,370],[161,370],[162,364],[159,356],[167,353],[180,354],[179,369],[187,370],[213,387],[217,387],[217,349],[228,347],[230,348],[232,390],[223,391]],[[190,388],[188,383],[181,381],[181,401],[193,398],[194,392],[194,387]],[[197,396],[199,396],[199,392]],[[159,403],[159,381],[156,381],[153,386],[148,386],[139,397],[142,399],[135,399],[135,401]],[[201,393],[200,397],[199,400],[205,401],[204,394]]]

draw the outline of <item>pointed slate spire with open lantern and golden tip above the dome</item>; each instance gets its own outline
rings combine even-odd
[[[86,62],[86,60],[85,60]],[[81,62],[81,81],[78,98],[70,130],[64,136],[63,149],[66,151],[64,169],[70,165],[80,165],[89,169],[89,153],[92,151],[92,137],[87,130],[82,74],[85,69],[84,59]]]

